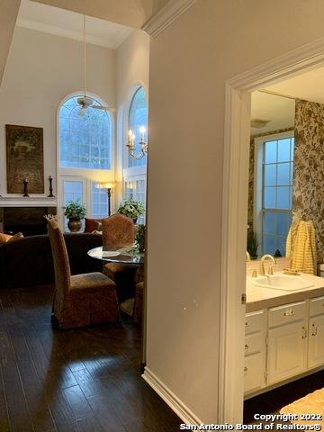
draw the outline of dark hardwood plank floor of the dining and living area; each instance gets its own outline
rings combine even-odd
[[[172,432],[181,420],[140,377],[140,335],[58,330],[51,287],[0,291],[0,432]]]

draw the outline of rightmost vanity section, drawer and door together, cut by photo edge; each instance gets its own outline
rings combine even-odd
[[[308,367],[324,365],[324,297],[311,299]]]

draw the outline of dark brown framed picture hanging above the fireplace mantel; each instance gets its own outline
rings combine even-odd
[[[5,125],[7,193],[44,193],[43,129]]]

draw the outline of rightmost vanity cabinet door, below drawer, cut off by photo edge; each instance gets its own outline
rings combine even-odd
[[[324,315],[310,319],[308,366],[324,364]]]

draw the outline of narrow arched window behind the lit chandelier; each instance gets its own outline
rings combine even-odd
[[[129,112],[129,130],[132,130],[135,134],[135,142],[139,143],[141,127],[145,127],[144,139],[148,140],[148,103],[145,97],[144,88],[139,87],[139,89],[133,95],[130,103]],[[140,166],[147,164],[147,157],[142,157],[141,159],[135,159],[129,155],[129,167]]]

